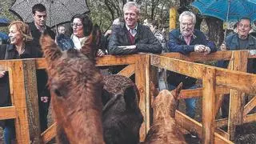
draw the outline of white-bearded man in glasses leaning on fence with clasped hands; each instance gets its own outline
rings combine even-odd
[[[195,15],[190,11],[184,11],[179,16],[180,28],[170,31],[167,51],[178,52],[181,54],[190,54],[198,52],[210,54],[217,50],[214,42],[206,39],[206,36],[200,31],[195,30]],[[187,77],[186,75],[168,71],[167,82],[169,89],[174,90],[180,82],[183,82],[183,89],[195,89],[197,79]],[[190,118],[195,117],[196,98],[186,98],[186,114]],[[191,135],[194,137],[194,135]]]

